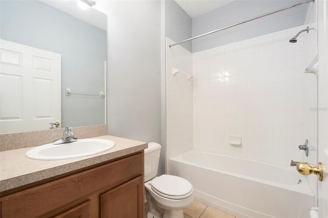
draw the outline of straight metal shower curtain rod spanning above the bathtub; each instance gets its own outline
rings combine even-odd
[[[192,37],[192,38],[189,38],[189,39],[186,39],[186,40],[183,40],[183,41],[179,41],[179,42],[176,42],[176,43],[173,43],[173,44],[170,44],[169,47],[171,48],[172,46],[176,46],[176,45],[179,45],[180,43],[183,43],[183,42],[186,42],[186,41],[190,41],[190,40],[193,40],[193,39],[196,39],[196,38],[199,38],[199,37],[202,37],[202,36],[206,36],[206,35],[210,35],[212,33],[216,33],[218,31],[221,31],[221,30],[225,30],[225,29],[228,29],[230,27],[234,27],[234,26],[237,26],[239,24],[243,24],[243,23],[246,23],[248,21],[251,21],[251,20],[254,20],[254,19],[257,19],[257,18],[260,18],[260,17],[264,17],[264,16],[268,16],[270,14],[274,14],[276,12],[279,12],[279,11],[283,11],[283,10],[286,10],[286,9],[290,9],[290,8],[293,8],[295,6],[299,6],[299,5],[302,5],[304,3],[309,3],[309,2],[314,2],[315,0],[305,0],[305,1],[302,1],[302,2],[299,2],[299,3],[296,3],[294,5],[291,5],[291,6],[287,6],[287,7],[284,7],[284,8],[281,8],[281,9],[278,9],[278,10],[275,10],[275,11],[272,11],[272,12],[269,12],[269,13],[266,13],[266,14],[262,14],[262,15],[259,15],[257,17],[253,17],[253,18],[250,18],[250,19],[247,19],[247,20],[243,20],[243,21],[240,21],[236,24],[232,24],[232,25],[229,25],[227,27],[223,27],[223,28],[220,28],[220,29],[217,29],[217,30],[213,30],[211,32],[208,32],[208,33],[204,33],[204,34],[201,34],[201,35],[198,35],[198,36],[195,36],[195,37]]]

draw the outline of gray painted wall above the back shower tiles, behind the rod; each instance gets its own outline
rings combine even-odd
[[[300,0],[285,1],[243,1],[237,0],[192,20],[192,35],[197,36],[239,21],[250,19],[286,6],[301,2]],[[312,4],[312,3],[309,3]],[[192,41],[192,51],[198,52],[228,43],[269,34],[276,31],[304,24],[308,4],[303,4],[269,16],[265,16],[245,24],[213,33]],[[296,34],[296,33],[295,33]],[[292,36],[291,36],[292,37]]]

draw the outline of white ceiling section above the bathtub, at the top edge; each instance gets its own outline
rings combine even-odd
[[[232,1],[234,0],[175,0],[191,17],[207,13]]]

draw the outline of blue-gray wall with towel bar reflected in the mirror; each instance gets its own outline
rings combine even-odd
[[[105,90],[106,31],[38,1],[1,1],[0,33],[2,39],[61,54],[62,126],[105,123],[104,98],[69,97],[65,89]]]

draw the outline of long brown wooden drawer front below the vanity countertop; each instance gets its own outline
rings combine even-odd
[[[2,218],[36,217],[99,189],[116,187],[143,175],[143,159],[137,154],[8,195],[1,199]]]

